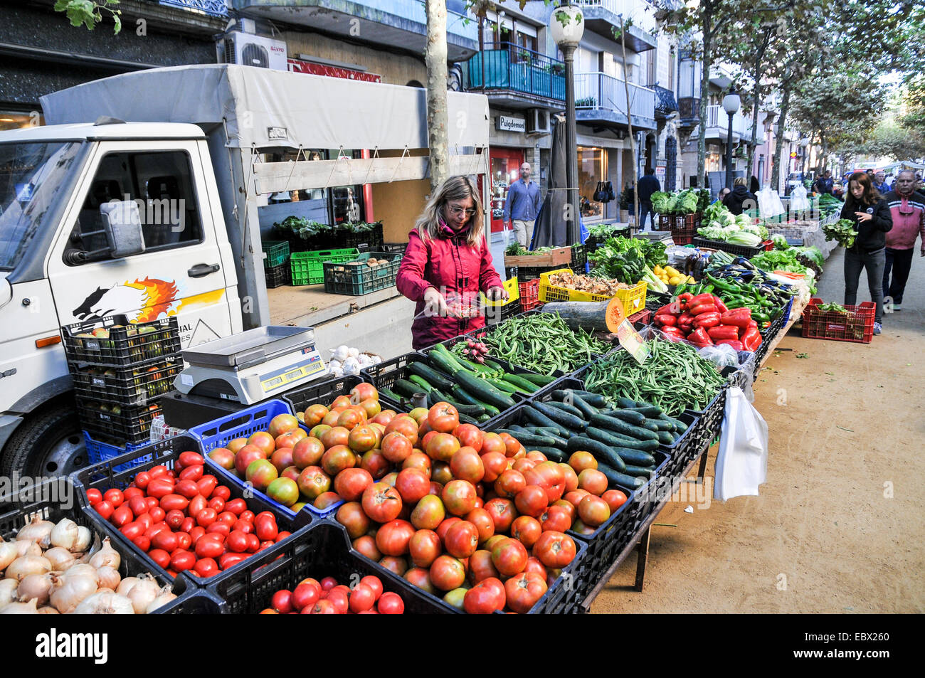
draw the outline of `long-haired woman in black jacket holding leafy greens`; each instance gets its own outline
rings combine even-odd
[[[893,228],[890,205],[870,182],[866,172],[855,172],[848,178],[848,191],[843,219],[855,224],[854,246],[845,250],[845,306],[857,303],[857,280],[861,269],[867,268],[870,299],[877,304],[873,333],[880,334],[883,318],[883,267],[886,265],[886,236]]]

